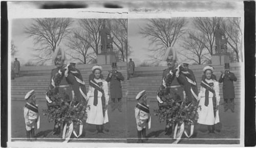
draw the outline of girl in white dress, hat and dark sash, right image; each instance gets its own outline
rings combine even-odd
[[[220,88],[219,83],[211,77],[214,68],[206,66],[203,71],[206,79],[201,82],[201,88],[198,94],[199,106],[201,106],[198,109],[198,123],[207,125],[209,133],[214,133],[214,125],[220,122],[218,110]]]

